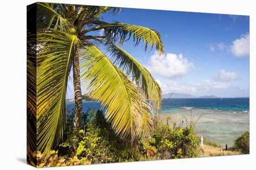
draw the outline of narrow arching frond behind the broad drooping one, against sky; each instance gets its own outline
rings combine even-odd
[[[128,54],[128,52],[121,49],[121,47],[110,44],[108,50],[112,57],[114,57],[114,63],[133,77],[136,84],[141,87],[143,93],[146,95],[146,99],[152,105],[153,110],[158,112],[161,107],[162,92],[149,71],[135,60],[134,57]]]

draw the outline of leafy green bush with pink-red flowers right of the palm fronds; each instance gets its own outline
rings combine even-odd
[[[155,156],[156,159],[197,157],[199,138],[194,129],[188,126],[182,128],[158,123],[149,143],[143,143],[143,150],[146,151],[147,156],[149,154],[149,156]]]

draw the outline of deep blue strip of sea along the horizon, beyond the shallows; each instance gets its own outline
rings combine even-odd
[[[101,103],[84,101],[83,112],[100,109]],[[161,111],[175,111],[180,108],[201,108],[249,112],[249,98],[186,98],[163,99]],[[74,109],[74,102],[67,102],[67,111]]]

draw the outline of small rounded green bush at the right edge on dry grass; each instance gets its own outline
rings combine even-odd
[[[250,151],[250,133],[245,132],[239,138],[235,140],[234,148],[236,151],[241,151],[245,154],[249,154]]]

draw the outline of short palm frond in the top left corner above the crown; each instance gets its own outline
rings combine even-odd
[[[72,24],[57,13],[48,3],[37,3],[37,22],[38,28],[52,28],[55,30],[69,31]]]

